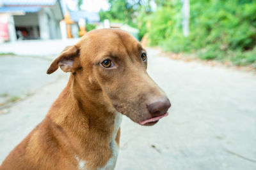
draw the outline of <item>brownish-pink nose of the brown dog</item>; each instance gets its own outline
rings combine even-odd
[[[166,113],[168,108],[170,108],[171,103],[167,97],[163,97],[161,99],[154,99],[154,101],[150,101],[150,103],[147,104],[148,111],[153,116],[159,116]]]

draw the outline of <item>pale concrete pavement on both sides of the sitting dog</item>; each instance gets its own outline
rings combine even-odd
[[[172,108],[153,127],[124,117],[116,169],[256,169],[256,75],[148,53],[148,72]],[[55,81],[0,115],[0,162],[65,87],[64,73],[51,76]]]

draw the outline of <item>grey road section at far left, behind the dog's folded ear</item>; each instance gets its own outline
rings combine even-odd
[[[5,55],[0,57],[0,94],[24,96],[49,81],[53,76],[46,74],[51,60],[39,57],[19,57]]]

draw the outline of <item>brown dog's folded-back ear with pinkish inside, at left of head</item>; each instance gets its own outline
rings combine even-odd
[[[64,72],[76,72],[76,67],[74,65],[76,60],[78,60],[79,48],[76,45],[67,46],[57,57],[47,69],[47,74],[51,74],[60,67]]]

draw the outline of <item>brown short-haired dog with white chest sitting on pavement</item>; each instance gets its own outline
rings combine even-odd
[[[0,169],[114,169],[122,115],[141,125],[168,115],[145,49],[125,31],[88,32],[47,74],[58,67],[71,73],[67,87]]]

